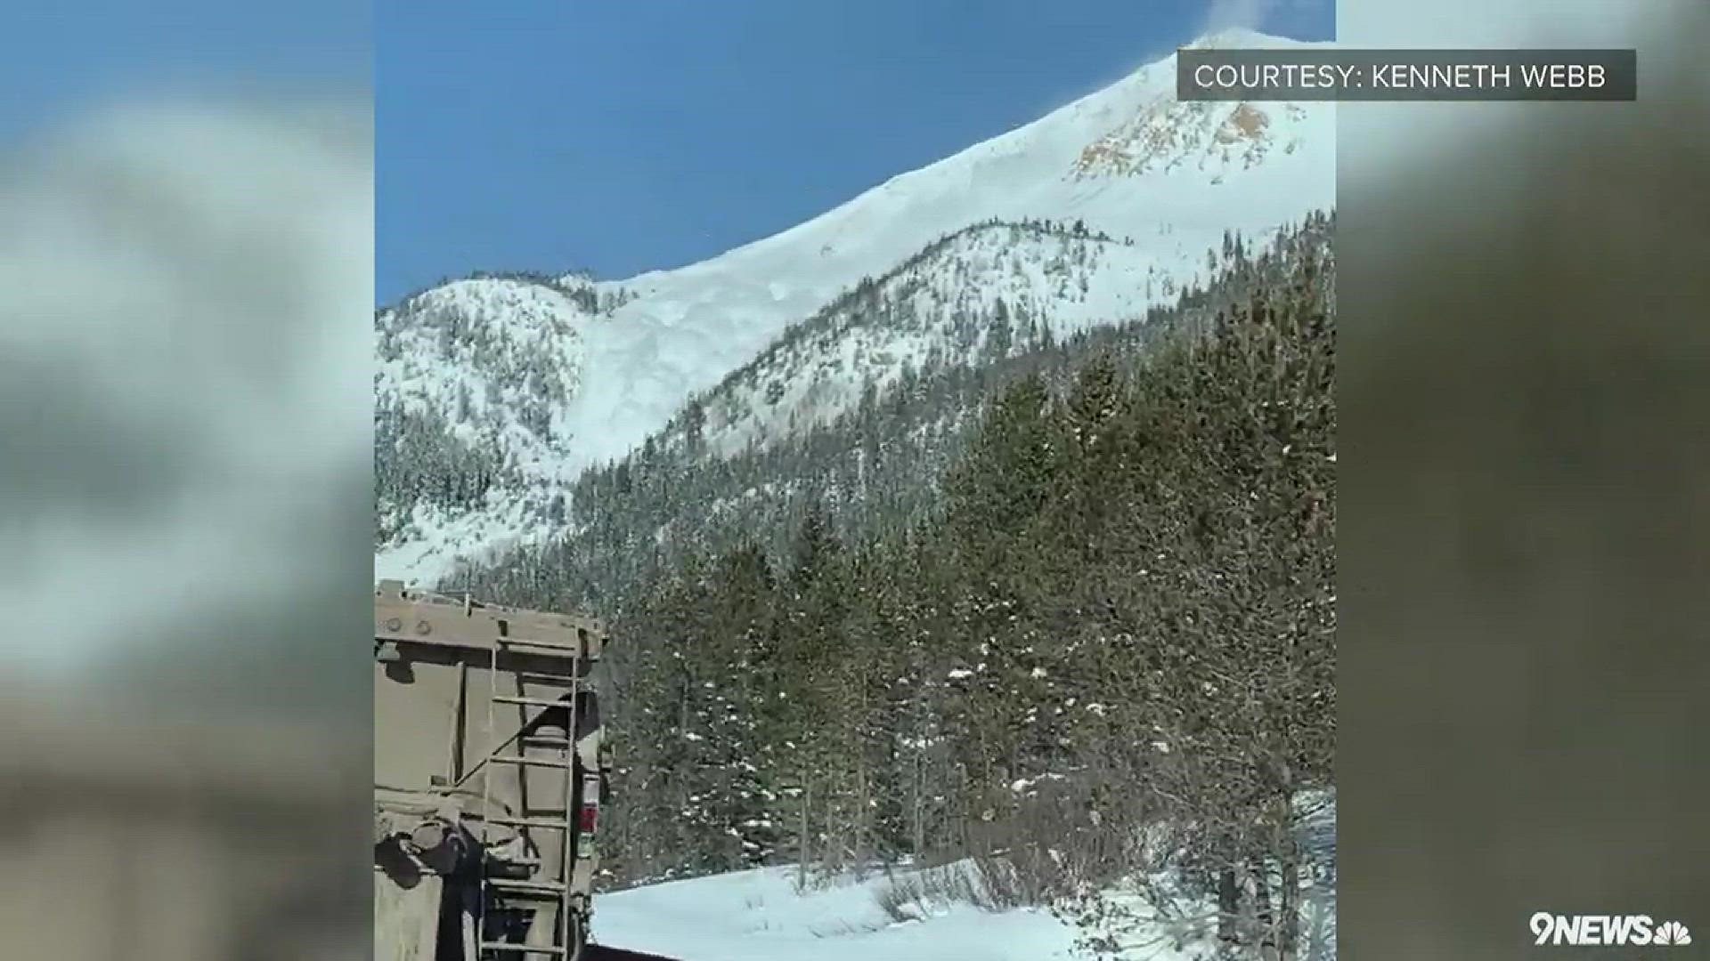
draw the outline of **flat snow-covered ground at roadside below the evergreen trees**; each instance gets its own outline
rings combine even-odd
[[[970,905],[894,922],[882,877],[797,894],[792,869],[744,870],[605,894],[600,944],[682,961],[1050,961],[1086,958],[1045,911]],[[1158,961],[1173,961],[1168,956]]]

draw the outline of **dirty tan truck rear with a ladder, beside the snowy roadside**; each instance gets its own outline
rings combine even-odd
[[[374,590],[374,958],[645,958],[588,942],[610,754],[590,617]]]

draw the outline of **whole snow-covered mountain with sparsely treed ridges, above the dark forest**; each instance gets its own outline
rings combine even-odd
[[[1228,31],[1197,46],[1312,44]],[[990,356],[958,318],[997,301],[1057,333],[1173,301],[1226,234],[1264,241],[1334,205],[1334,133],[1329,104],[1178,103],[1171,55],[703,263],[417,294],[376,318],[376,462],[392,484],[378,573],[433,580],[458,556],[556,534],[575,522],[563,484],[691,398],[708,450],[728,451],[882,390],[905,363]],[[857,310],[874,292],[903,308]],[[458,480],[410,498],[422,472],[386,462],[429,439],[455,460],[438,475]]]

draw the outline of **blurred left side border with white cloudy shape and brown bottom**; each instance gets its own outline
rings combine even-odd
[[[7,958],[371,951],[373,43],[7,14]]]

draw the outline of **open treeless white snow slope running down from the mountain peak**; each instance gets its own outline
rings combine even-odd
[[[1245,31],[1214,43],[1315,46]],[[1146,162],[1113,159],[1130,154]],[[621,457],[790,323],[970,224],[1079,219],[1147,243],[1190,275],[1224,229],[1260,236],[1329,207],[1334,161],[1330,104],[1176,103],[1170,55],[781,234],[622,280],[638,298],[590,339],[575,410],[581,453]]]

